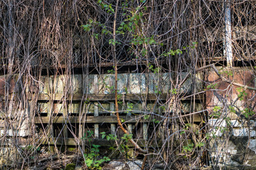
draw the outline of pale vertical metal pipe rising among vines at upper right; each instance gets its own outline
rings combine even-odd
[[[231,30],[231,10],[230,0],[224,1],[225,9],[225,36],[224,36],[224,55],[227,59],[227,66],[233,67],[233,53],[232,53],[232,30]]]

